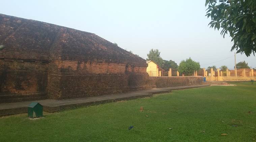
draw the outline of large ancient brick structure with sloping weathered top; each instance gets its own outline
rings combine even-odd
[[[144,59],[93,33],[0,14],[2,102],[145,89],[146,68]]]

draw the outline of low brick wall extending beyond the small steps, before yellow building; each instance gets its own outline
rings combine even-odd
[[[150,77],[151,78],[151,77]],[[162,77],[152,77],[155,79],[157,88],[160,87],[171,87],[171,86],[185,86],[185,85],[197,85],[197,84],[202,84],[203,82],[203,77],[193,77],[193,76],[173,76],[173,77],[167,77],[167,76],[162,76]]]

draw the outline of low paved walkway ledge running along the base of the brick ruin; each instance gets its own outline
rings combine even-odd
[[[67,99],[67,100],[38,100],[38,101],[25,101],[25,102],[17,102],[17,103],[5,103],[5,104],[0,104],[0,116],[26,113],[27,106],[31,102],[39,102],[40,104],[42,104],[44,111],[56,112],[63,109],[73,109],[73,108],[82,107],[82,106],[93,106],[93,105],[116,102],[121,100],[131,100],[131,99],[137,99],[137,98],[151,97],[154,94],[169,93],[172,90],[182,90],[182,89],[198,88],[198,87],[206,87],[206,86],[209,86],[209,85],[191,85],[191,86],[153,88],[148,90],[123,93],[123,94],[103,95],[103,96],[96,96],[96,97],[75,98],[75,99]]]

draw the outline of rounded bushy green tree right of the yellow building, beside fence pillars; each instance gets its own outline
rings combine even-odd
[[[185,60],[182,60],[179,63],[178,71],[179,73],[183,73],[186,76],[192,76],[194,74],[194,71],[198,71],[200,69],[199,62],[193,61],[191,58]]]

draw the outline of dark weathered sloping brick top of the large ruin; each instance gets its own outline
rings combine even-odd
[[[111,33],[110,33],[111,34]],[[0,14],[0,58],[132,62],[145,60],[89,32]]]

